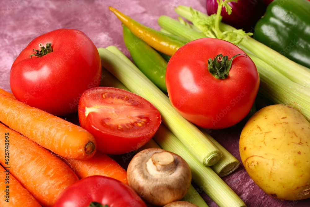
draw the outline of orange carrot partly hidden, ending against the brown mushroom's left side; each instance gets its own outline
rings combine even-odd
[[[128,185],[126,170],[111,157],[100,151],[96,151],[95,155],[88,160],[67,159],[66,162],[80,179],[92,175],[103,175],[115,178]]]

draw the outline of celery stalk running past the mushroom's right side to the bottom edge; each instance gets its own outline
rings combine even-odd
[[[167,151],[180,155],[192,170],[192,179],[220,207],[246,206],[237,194],[209,167],[203,166],[166,127],[158,128],[153,139]]]

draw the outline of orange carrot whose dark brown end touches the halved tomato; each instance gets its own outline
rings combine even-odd
[[[86,160],[96,151],[95,138],[82,127],[3,94],[0,121],[65,158]]]

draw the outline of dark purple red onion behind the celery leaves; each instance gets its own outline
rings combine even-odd
[[[223,16],[222,22],[237,29],[243,29],[246,32],[254,32],[256,22],[266,11],[264,0],[239,0],[228,4],[232,7],[232,13],[228,15],[223,7],[221,12],[221,16]],[[216,0],[206,0],[207,14],[215,14],[217,6]]]

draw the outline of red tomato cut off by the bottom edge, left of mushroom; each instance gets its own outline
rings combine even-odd
[[[100,175],[83,178],[67,187],[54,207],[89,206],[97,202],[109,207],[146,207],[141,197],[128,185]]]

